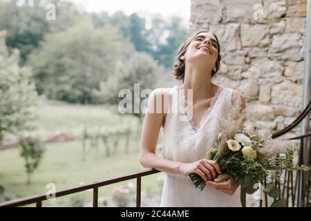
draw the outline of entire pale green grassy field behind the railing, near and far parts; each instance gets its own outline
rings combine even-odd
[[[83,128],[88,124],[89,128],[117,128],[130,124],[133,128],[137,122],[135,117],[120,116],[113,109],[100,106],[77,106],[69,104],[41,104],[37,108],[39,117],[39,130],[48,134],[53,131],[77,134],[77,128]],[[120,122],[122,118],[122,122]],[[135,128],[137,129],[137,128]],[[139,131],[139,130],[138,130]],[[6,193],[15,198],[23,198],[30,195],[46,193],[46,185],[53,183],[57,191],[68,189],[79,184],[91,184],[95,181],[108,180],[120,177],[144,168],[138,161],[140,139],[133,135],[129,143],[129,153],[124,153],[124,140],[120,140],[117,153],[106,157],[105,149],[100,142],[98,153],[91,148],[89,142],[86,145],[86,160],[82,161],[82,141],[59,142],[46,144],[46,152],[37,171],[32,176],[32,183],[26,185],[26,173],[23,159],[19,156],[20,148],[10,148],[0,151],[0,184],[4,186]],[[142,178],[142,190],[156,191],[160,188],[158,177],[162,174],[151,175]],[[135,185],[135,180],[131,180]],[[129,182],[124,182],[127,186]],[[117,184],[99,189],[99,197],[111,195],[111,190]],[[135,192],[135,187],[132,192]],[[77,194],[75,194],[77,195]],[[84,198],[85,202],[91,202],[92,191],[64,196],[57,200],[48,200],[43,206],[72,206],[75,198]],[[142,202],[143,203],[143,202]]]

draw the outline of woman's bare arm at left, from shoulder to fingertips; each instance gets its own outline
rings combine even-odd
[[[142,138],[140,145],[140,164],[145,168],[152,168],[165,173],[178,173],[189,175],[197,173],[205,182],[212,180],[221,173],[216,162],[211,160],[198,160],[193,163],[182,163],[166,160],[156,155],[158,135],[160,128],[168,110],[169,92],[164,88],[153,90],[149,96],[144,125],[142,128]]]

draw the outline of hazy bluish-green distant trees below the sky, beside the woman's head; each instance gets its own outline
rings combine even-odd
[[[145,18],[135,13],[127,17],[122,11],[111,16],[106,12],[94,13],[93,22],[95,26],[102,27],[110,23],[120,28],[123,37],[131,41],[135,50],[147,52],[166,68],[171,68],[177,49],[187,35],[182,19],[176,16],[164,19],[159,14],[151,15],[148,29]]]

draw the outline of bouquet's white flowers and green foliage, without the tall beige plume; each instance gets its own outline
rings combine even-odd
[[[264,142],[258,135],[249,135],[245,131],[245,127],[241,133],[237,133],[233,139],[226,140],[225,144],[220,146],[222,137],[222,133],[219,133],[215,147],[207,151],[207,159],[216,161],[222,173],[232,175],[247,193],[254,193],[256,191],[254,184],[263,181],[268,175],[276,175],[270,174],[272,172],[269,169],[273,169],[275,172],[277,169],[292,169],[294,167],[292,163],[293,149],[290,146],[281,146],[282,148],[273,151],[270,149],[273,152],[270,153],[267,151],[267,142]],[[284,154],[279,155],[280,153]],[[268,157],[270,155],[272,157]],[[205,181],[202,177],[193,173],[190,178],[196,187],[204,189]]]

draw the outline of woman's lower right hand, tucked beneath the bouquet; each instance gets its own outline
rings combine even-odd
[[[214,186],[216,189],[222,191],[223,193],[227,193],[228,195],[234,195],[239,186],[238,182],[234,180],[232,175],[227,173],[217,177],[214,182],[207,181],[206,184]]]

